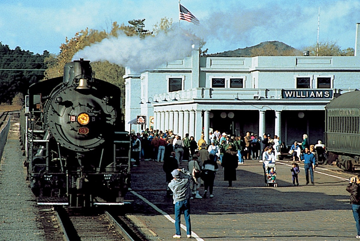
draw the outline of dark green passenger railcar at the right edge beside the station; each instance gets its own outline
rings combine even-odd
[[[328,163],[353,172],[360,167],[360,91],[342,94],[326,106]]]

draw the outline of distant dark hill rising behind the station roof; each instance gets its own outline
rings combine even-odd
[[[252,56],[290,56],[301,52],[283,42],[266,41],[244,49],[229,50],[222,53],[207,54],[214,57],[252,57]]]

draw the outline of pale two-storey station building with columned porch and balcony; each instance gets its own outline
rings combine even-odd
[[[324,139],[325,105],[360,89],[360,23],[355,56],[187,58],[144,73],[125,73],[125,123],[139,115],[144,128],[172,129],[199,140],[209,130],[280,136],[286,145]],[[139,126],[131,129],[139,131]]]

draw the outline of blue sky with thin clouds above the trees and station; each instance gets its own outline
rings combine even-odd
[[[152,30],[161,18],[179,24],[177,0],[1,0],[0,41],[11,49],[58,53],[65,38],[86,27],[111,29],[111,23],[145,18]],[[181,21],[207,42],[208,53],[282,41],[298,49],[317,39],[336,41],[343,49],[355,46],[360,0],[181,0],[201,26]]]

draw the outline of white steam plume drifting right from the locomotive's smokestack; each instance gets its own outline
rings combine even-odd
[[[192,51],[197,51],[199,43],[199,38],[181,29],[145,38],[126,36],[119,32],[118,37],[105,38],[78,51],[73,60],[107,60],[141,73],[191,55]]]

